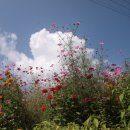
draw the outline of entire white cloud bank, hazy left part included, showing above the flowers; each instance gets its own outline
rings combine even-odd
[[[54,64],[54,68],[59,68],[58,59],[57,59],[57,50],[59,43],[59,35],[62,37],[64,44],[68,42],[68,37],[72,35],[71,32],[54,32],[51,33],[46,29],[42,29],[39,32],[36,32],[30,37],[30,51],[33,58],[29,58],[26,54],[21,53],[16,50],[17,45],[17,36],[14,33],[4,33],[0,34],[0,55],[3,55],[8,58],[10,62],[16,64],[16,66],[38,66],[44,67],[44,69],[49,70],[50,65]],[[84,39],[80,39],[77,36],[73,37],[74,46],[79,44],[85,44]],[[92,57],[94,49],[87,49]]]

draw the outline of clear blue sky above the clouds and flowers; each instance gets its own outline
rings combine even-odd
[[[67,26],[80,21],[77,33],[79,38],[84,35],[88,37],[90,48],[97,48],[103,41],[108,59],[120,64],[124,57],[130,56],[130,3],[128,0],[106,1],[105,4],[119,11],[117,13],[92,1],[95,2],[95,0],[1,0],[0,33],[16,34],[15,51],[33,58],[29,45],[32,34],[43,28],[49,29],[52,23]],[[114,4],[112,1],[119,3]],[[103,0],[97,2],[101,3]],[[122,55],[118,54],[120,49],[123,50]]]

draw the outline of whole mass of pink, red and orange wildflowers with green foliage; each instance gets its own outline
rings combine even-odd
[[[1,65],[0,130],[130,129],[130,63],[107,62],[103,43],[94,55],[87,40],[75,44],[79,24],[59,33],[56,71]]]

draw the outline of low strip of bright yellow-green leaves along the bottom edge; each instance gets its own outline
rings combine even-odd
[[[60,126],[54,122],[44,121],[37,124],[33,130],[129,130],[130,126],[127,125],[124,128],[107,127],[104,122],[100,121],[97,116],[90,116],[82,125],[78,125],[74,122],[68,123],[66,126]]]

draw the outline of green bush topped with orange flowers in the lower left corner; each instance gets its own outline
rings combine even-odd
[[[22,90],[13,75],[6,71],[0,85],[0,128],[32,128],[34,122],[23,103]]]

